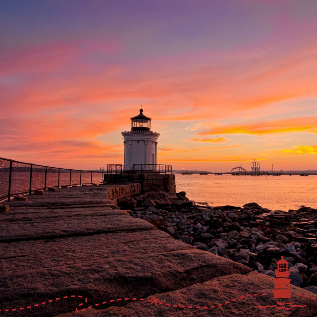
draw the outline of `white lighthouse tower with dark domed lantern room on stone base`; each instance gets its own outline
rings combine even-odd
[[[152,119],[143,114],[142,108],[137,116],[130,119],[131,131],[121,132],[124,136],[124,170],[130,170],[133,164],[139,165],[136,169],[141,169],[141,164],[156,165],[159,133],[151,131]]]

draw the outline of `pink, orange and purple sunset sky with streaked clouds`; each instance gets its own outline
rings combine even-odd
[[[152,117],[173,169],[317,170],[317,1],[0,1],[0,157],[123,163]]]

